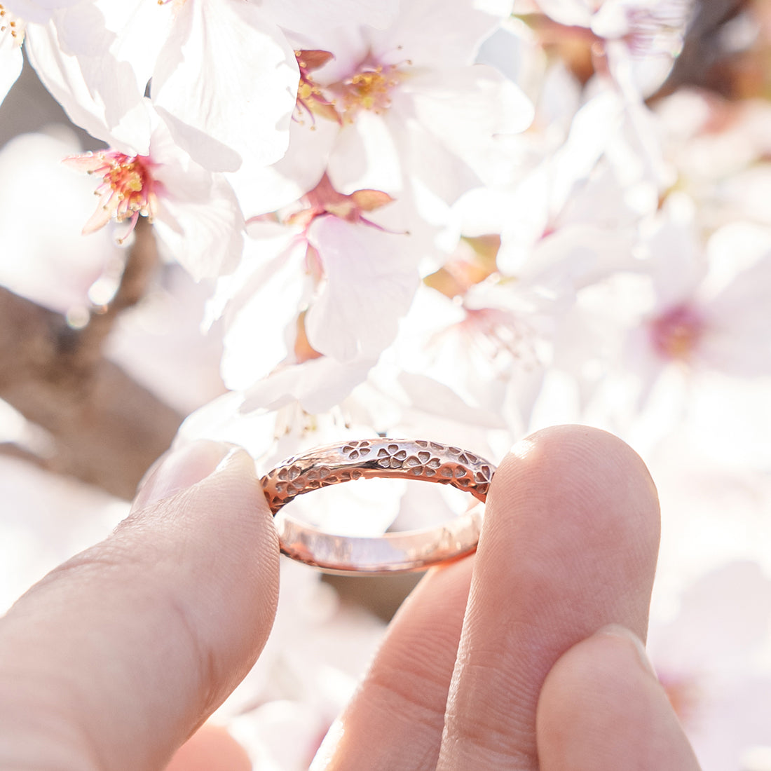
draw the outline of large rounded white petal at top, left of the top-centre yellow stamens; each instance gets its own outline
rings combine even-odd
[[[151,89],[191,157],[234,171],[242,158],[268,165],[284,154],[298,79],[295,52],[260,8],[207,0],[180,8]]]

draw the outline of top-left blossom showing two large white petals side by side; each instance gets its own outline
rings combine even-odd
[[[108,34],[95,34],[92,49],[62,45],[66,15],[52,19],[30,47],[32,64],[72,120],[95,136],[121,136],[151,81],[150,96],[174,140],[204,167],[234,170],[245,156],[271,163],[283,155],[298,67],[257,4],[94,5]]]

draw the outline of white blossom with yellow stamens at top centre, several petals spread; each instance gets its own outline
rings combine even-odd
[[[298,104],[313,115],[295,132],[278,172],[310,164],[315,180],[326,172],[344,193],[372,188],[403,199],[425,189],[451,201],[500,171],[497,136],[524,130],[532,107],[500,72],[473,65],[499,23],[466,0],[452,13],[420,0],[387,29],[305,29],[297,43],[305,63]],[[433,30],[430,38],[425,29]]]

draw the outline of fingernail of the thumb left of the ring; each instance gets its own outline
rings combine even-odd
[[[201,439],[160,456],[140,482],[132,510],[146,508],[206,479],[238,449],[233,444]]]

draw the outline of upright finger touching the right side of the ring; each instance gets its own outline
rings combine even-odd
[[[618,623],[645,638],[658,497],[611,434],[546,429],[507,456],[487,511],[447,700],[439,771],[535,771],[541,685]]]

